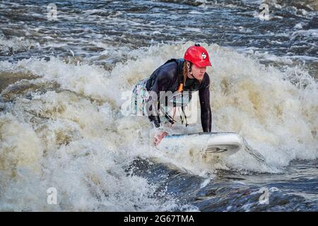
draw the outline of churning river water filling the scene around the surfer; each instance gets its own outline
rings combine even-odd
[[[317,211],[317,1],[264,2],[269,20],[246,0],[62,1],[52,20],[48,1],[1,1],[0,210]],[[213,131],[246,141],[225,159],[161,153],[148,118],[122,114],[196,42]]]

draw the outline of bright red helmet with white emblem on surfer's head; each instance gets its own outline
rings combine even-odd
[[[192,64],[195,64],[199,68],[203,66],[211,66],[210,59],[208,58],[208,52],[199,44],[194,44],[192,47],[189,47],[184,54],[184,59],[192,62]]]

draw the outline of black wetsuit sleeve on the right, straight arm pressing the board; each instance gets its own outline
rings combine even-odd
[[[208,74],[204,75],[201,88],[199,89],[199,100],[201,107],[201,125],[204,132],[211,132],[212,114],[210,106],[210,78]]]

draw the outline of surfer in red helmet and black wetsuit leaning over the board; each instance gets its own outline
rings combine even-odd
[[[142,110],[143,107],[146,107],[146,114],[155,129],[153,145],[158,145],[167,135],[162,126],[162,121],[160,121],[160,113],[171,124],[175,123],[175,114],[171,117],[164,110],[165,105],[167,105],[166,100],[172,100],[173,106],[176,107],[177,103],[175,100],[177,100],[178,96],[183,97],[184,93],[189,93],[188,99],[191,100],[191,93],[199,90],[201,126],[204,132],[211,132],[210,78],[208,73],[206,73],[207,66],[211,66],[208,52],[204,47],[195,44],[187,49],[183,59],[170,59],[156,69],[150,78],[143,79],[135,85],[132,104],[136,111],[138,111],[137,104],[140,100],[143,103],[141,106]],[[173,93],[173,95],[170,95],[170,97],[165,95],[167,92]],[[184,112],[183,100],[181,105],[182,112]],[[187,120],[185,114],[184,119]]]

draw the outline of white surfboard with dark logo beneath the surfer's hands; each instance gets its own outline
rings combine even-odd
[[[169,153],[194,149],[206,155],[229,156],[237,153],[243,144],[242,137],[233,132],[187,133],[165,136],[158,149]]]

